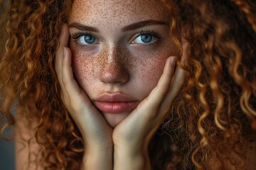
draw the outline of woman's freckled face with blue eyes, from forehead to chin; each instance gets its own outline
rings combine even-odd
[[[156,86],[177,55],[159,0],[76,0],[68,18],[73,72],[112,127]]]

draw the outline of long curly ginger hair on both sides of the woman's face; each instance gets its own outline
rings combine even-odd
[[[172,16],[174,42],[181,51],[181,36],[188,42],[188,61],[178,62],[188,77],[151,140],[151,166],[208,169],[213,162],[228,169],[228,161],[244,169],[244,148],[255,143],[256,3],[162,1]],[[14,125],[10,108],[18,101],[21,115],[37,123],[47,169],[79,169],[82,159],[82,137],[61,103],[54,70],[60,27],[72,3],[12,0],[0,21],[0,120],[7,120],[1,132]]]

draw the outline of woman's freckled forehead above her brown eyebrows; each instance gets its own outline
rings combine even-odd
[[[169,11],[161,0],[75,0],[70,21],[80,23],[133,23],[143,20],[169,20]]]

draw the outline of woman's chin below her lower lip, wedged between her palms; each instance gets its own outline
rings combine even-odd
[[[103,113],[103,116],[107,120],[107,123],[112,127],[115,128],[119,123],[124,120],[129,113],[117,113],[117,114],[111,114],[111,113]]]

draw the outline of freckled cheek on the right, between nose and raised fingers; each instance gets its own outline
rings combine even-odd
[[[136,81],[137,93],[142,98],[150,94],[152,89],[157,85],[164,71],[166,59],[170,56],[176,56],[178,50],[171,40],[160,46],[151,47],[150,50],[132,49],[134,56],[134,77]]]

